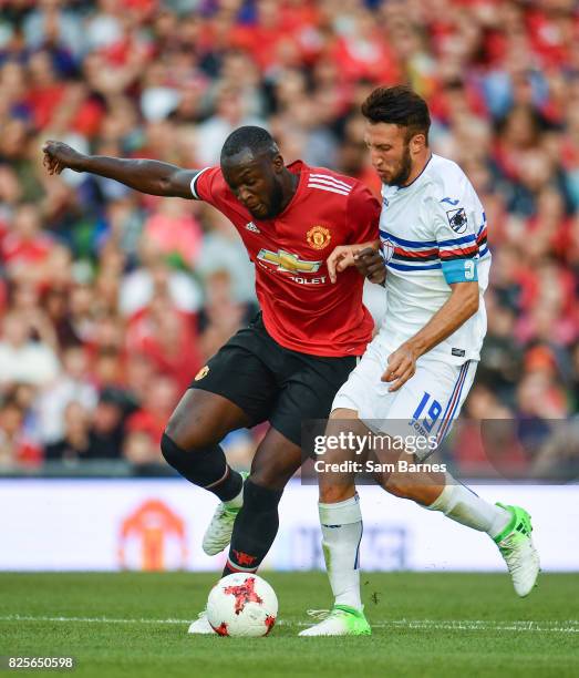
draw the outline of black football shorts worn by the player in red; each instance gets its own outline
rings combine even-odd
[[[254,427],[262,421],[300,445],[301,422],[325,419],[358,358],[323,358],[283,348],[266,331],[261,314],[224,345],[192,389],[227,398]]]

